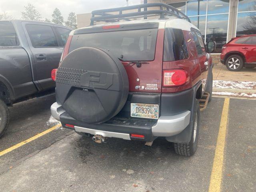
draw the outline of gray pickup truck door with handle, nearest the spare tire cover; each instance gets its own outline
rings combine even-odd
[[[34,58],[34,81],[42,90],[52,88],[55,82],[51,79],[51,71],[58,68],[64,45],[51,24],[25,22],[23,27]]]

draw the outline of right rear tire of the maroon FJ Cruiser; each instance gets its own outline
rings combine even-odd
[[[195,124],[195,122],[197,122]],[[196,126],[196,135],[194,139],[194,132]],[[199,135],[199,128],[200,128],[200,108],[199,102],[197,101],[197,107],[195,110],[194,121],[193,121],[193,130],[190,138],[190,142],[188,143],[174,143],[174,150],[176,154],[183,155],[183,156],[192,156],[197,149],[198,144],[198,135]]]

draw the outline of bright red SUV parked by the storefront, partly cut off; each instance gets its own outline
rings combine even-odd
[[[232,38],[222,47],[220,61],[230,71],[256,67],[256,35]]]

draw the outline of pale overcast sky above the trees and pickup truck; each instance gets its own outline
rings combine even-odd
[[[6,11],[14,19],[21,19],[21,12],[28,3],[36,7],[42,14],[42,19],[52,20],[52,12],[57,7],[66,20],[69,12],[80,14],[97,9],[122,7],[126,5],[126,0],[0,0],[0,14]],[[140,4],[140,0],[129,0],[129,5],[136,4]]]

